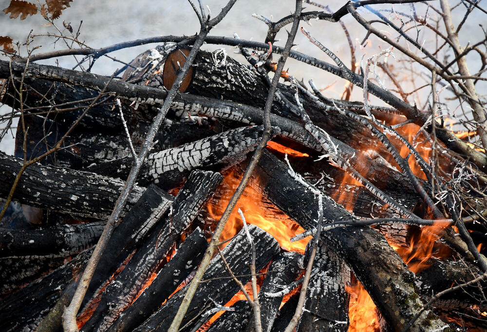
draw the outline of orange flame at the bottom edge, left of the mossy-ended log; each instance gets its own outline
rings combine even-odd
[[[348,315],[350,325],[348,331],[376,332],[379,331],[379,321],[375,313],[375,304],[359,281],[351,287],[346,287],[350,294]]]

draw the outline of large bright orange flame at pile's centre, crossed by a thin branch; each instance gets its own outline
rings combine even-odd
[[[227,172],[225,174],[224,182],[230,188],[225,188],[224,196],[217,202],[214,200],[210,201],[207,206],[208,213],[213,219],[220,220],[231,195],[240,183],[241,177],[241,175],[236,175],[235,172]],[[238,208],[244,212],[245,220],[248,224],[260,227],[271,234],[281,247],[289,251],[304,253],[304,248],[310,237],[291,242],[289,239],[296,234],[304,232],[304,229],[266,200],[261,192],[258,192],[252,186],[247,186],[237,203]],[[242,229],[243,223],[237,209],[233,211],[226,223],[220,238],[221,241],[232,238]]]

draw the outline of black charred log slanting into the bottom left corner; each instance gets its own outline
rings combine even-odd
[[[0,302],[0,330],[34,330],[70,282],[83,272],[93,249],[87,249],[47,276],[31,282]]]

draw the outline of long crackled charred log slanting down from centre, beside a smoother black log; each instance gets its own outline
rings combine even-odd
[[[166,259],[170,248],[189,227],[222,180],[223,176],[219,173],[191,173],[174,199],[172,215],[163,227],[155,227],[152,230],[122,272],[107,286],[98,307],[82,331],[106,331],[112,325],[121,310],[135,299],[151,273]]]

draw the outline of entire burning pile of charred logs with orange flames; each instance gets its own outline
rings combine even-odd
[[[290,51],[300,19],[359,6],[297,1],[261,17],[268,45],[218,40],[247,63],[200,49],[209,19],[121,78],[0,61],[21,118],[0,153],[0,330],[485,331],[485,154],[431,122],[435,102],[370,82],[387,52],[357,74],[303,28],[336,65]],[[288,56],[364,100],[307,87]]]

